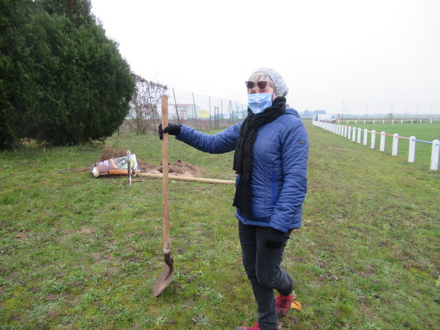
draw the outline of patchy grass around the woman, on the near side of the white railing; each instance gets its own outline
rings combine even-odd
[[[439,171],[306,126],[303,227],[283,261],[303,311],[289,312],[281,329],[440,329]],[[153,135],[107,145],[151,164],[161,159]],[[162,182],[129,187],[126,178],[59,173],[91,166],[102,146],[0,153],[0,329],[253,325],[234,187],[170,182],[175,277],[153,298],[164,267]],[[234,179],[232,153],[170,139],[170,162],[177,159],[204,168],[203,177]]]

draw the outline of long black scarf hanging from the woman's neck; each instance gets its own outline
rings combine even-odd
[[[233,206],[241,210],[245,217],[252,215],[250,180],[252,177],[253,153],[256,132],[259,126],[276,120],[285,113],[286,99],[282,96],[276,98],[272,107],[255,115],[248,108],[248,117],[243,121],[240,129],[239,140],[236,142],[234,153],[234,170],[240,174],[239,184],[235,190]]]

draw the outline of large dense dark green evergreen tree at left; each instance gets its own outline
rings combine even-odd
[[[134,81],[90,2],[0,1],[7,8],[0,17],[0,147],[22,137],[79,144],[118,129]]]

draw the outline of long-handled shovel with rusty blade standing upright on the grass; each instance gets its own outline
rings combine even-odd
[[[162,127],[168,126],[168,96],[162,96]],[[174,274],[173,258],[170,256],[170,219],[168,210],[168,133],[162,138],[162,173],[164,205],[164,258],[166,267],[160,273],[153,287],[153,296],[157,297],[168,287]]]

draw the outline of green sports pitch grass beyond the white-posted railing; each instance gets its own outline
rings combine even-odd
[[[347,124],[344,124],[347,126]],[[432,142],[433,140],[440,139],[440,124],[363,124],[362,121],[358,122],[356,125],[354,122],[349,124],[350,127],[356,127],[356,129],[362,129],[362,138],[361,144],[363,144],[364,140],[364,129],[369,131],[368,142],[366,147],[370,147],[371,144],[371,131],[373,129],[377,133],[381,133],[384,131],[386,134],[393,135],[394,133],[399,134],[401,137],[410,137],[415,136],[417,140]],[[356,137],[356,143],[358,138]],[[379,150],[380,148],[380,134],[376,134],[375,140],[375,149]],[[403,162],[408,162],[408,149],[409,149],[409,140],[399,139],[398,144],[398,155]],[[386,136],[385,137],[385,154],[391,155],[393,151],[393,137]],[[432,152],[432,144],[428,144],[425,142],[416,142],[415,148],[415,162],[420,164],[421,166],[426,166],[426,168],[430,167],[430,159]]]

